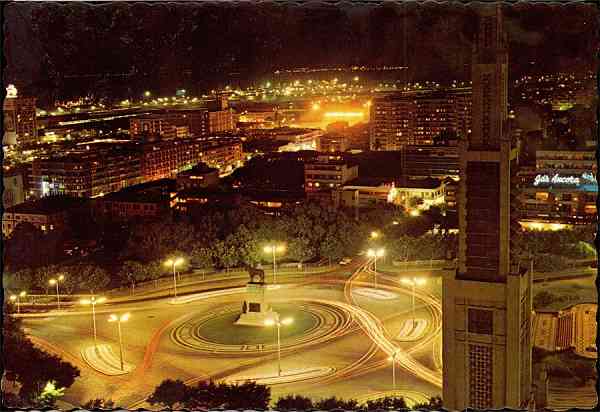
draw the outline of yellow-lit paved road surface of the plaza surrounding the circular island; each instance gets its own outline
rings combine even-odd
[[[428,382],[427,373],[412,359],[410,343],[395,343],[389,336],[396,336],[401,325],[410,316],[410,296],[392,281],[382,279],[381,288],[394,290],[397,296],[393,301],[383,301],[368,296],[356,297],[349,303],[344,297],[344,287],[350,274],[364,276],[364,270],[357,262],[352,267],[338,268],[331,273],[319,276],[289,277],[282,287],[271,290],[273,304],[318,304],[337,308],[340,312],[350,313],[351,322],[345,323],[322,343],[310,342],[298,346],[298,350],[282,354],[284,368],[332,368],[328,376],[306,381],[277,384],[272,386],[273,397],[287,393],[306,393],[311,396],[342,395],[345,397],[373,396],[390,390],[390,364],[385,353],[393,346],[407,353],[403,366],[398,361],[397,378],[415,391],[427,395],[439,394],[439,388]],[[282,277],[282,283],[284,278]],[[221,279],[212,282],[200,282],[182,287],[181,295],[198,291],[223,290],[239,287],[245,282],[240,279]],[[294,282],[294,283],[290,283]],[[345,283],[346,282],[346,283]],[[352,280],[350,288],[372,287],[371,282]],[[36,342],[49,351],[72,360],[81,369],[81,378],[71,387],[65,401],[72,404],[85,402],[95,397],[117,400],[120,406],[143,405],[143,398],[165,378],[180,378],[195,382],[206,377],[216,379],[228,376],[265,376],[276,367],[276,357],[272,354],[249,353],[244,356],[210,356],[177,345],[171,334],[177,325],[186,319],[194,319],[200,314],[216,313],[220,308],[241,305],[243,294],[223,293],[184,305],[172,305],[164,291],[153,291],[149,296],[137,296],[136,299],[122,299],[109,302],[97,308],[98,340],[100,343],[118,348],[114,324],[106,322],[109,313],[130,312],[131,318],[123,324],[124,353],[127,362],[136,365],[136,369],[125,376],[104,376],[87,367],[80,356],[80,350],[92,343],[91,313],[87,308],[48,312],[24,319],[28,333]],[[423,300],[421,300],[421,298]],[[424,295],[418,298],[421,316],[432,315],[431,304]],[[435,322],[432,318],[432,324]],[[435,330],[430,331],[435,333]],[[365,339],[367,337],[367,339]],[[433,341],[429,353],[433,353]],[[391,345],[391,346],[390,346]],[[382,350],[383,349],[383,350]],[[387,350],[386,350],[387,349]],[[118,353],[118,350],[117,350]],[[412,360],[411,360],[412,359]],[[408,362],[408,363],[407,363]],[[406,369],[403,369],[406,366]],[[415,371],[417,372],[415,377]],[[437,372],[431,372],[435,375]],[[431,378],[433,375],[429,376]],[[429,379],[432,380],[432,379]],[[326,385],[323,384],[329,382]]]

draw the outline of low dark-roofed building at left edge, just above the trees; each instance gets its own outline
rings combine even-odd
[[[25,222],[43,232],[64,231],[68,227],[70,213],[87,205],[85,199],[49,196],[9,207],[2,215],[2,234],[10,236],[20,223]]]

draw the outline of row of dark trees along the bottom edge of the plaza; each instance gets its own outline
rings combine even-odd
[[[228,384],[225,382],[202,381],[196,386],[188,386],[181,380],[166,379],[158,385],[148,398],[151,405],[160,405],[173,409],[225,408],[225,409],[267,409],[271,401],[271,389],[266,385],[247,381],[243,384]],[[90,405],[102,405],[101,400],[95,400]],[[354,399],[330,397],[313,401],[301,395],[287,395],[275,402],[278,410],[332,410],[332,409],[406,409],[408,406],[402,397],[387,396],[369,400],[359,405]],[[413,405],[412,409],[439,410],[442,399],[432,397],[429,402]]]

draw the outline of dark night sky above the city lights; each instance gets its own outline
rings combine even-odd
[[[450,4],[11,3],[5,84],[51,99],[201,92],[306,66],[407,65],[413,80],[465,78],[475,14]],[[592,68],[594,5],[522,2],[505,18],[513,77]]]

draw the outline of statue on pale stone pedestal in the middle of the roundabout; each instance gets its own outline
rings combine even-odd
[[[271,305],[266,302],[265,271],[248,266],[250,281],[246,284],[246,299],[242,304],[242,313],[235,322],[236,325],[264,326],[267,319],[277,316]]]

